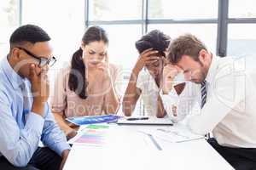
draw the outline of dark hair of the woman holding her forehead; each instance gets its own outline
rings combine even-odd
[[[170,41],[171,37],[167,36],[162,31],[154,30],[149,31],[148,34],[141,37],[141,39],[135,43],[135,46],[139,54],[143,53],[143,51],[148,48],[153,48],[153,50],[159,51],[159,54],[165,57],[165,51]]]

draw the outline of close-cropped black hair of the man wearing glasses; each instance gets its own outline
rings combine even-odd
[[[9,38],[10,47],[15,45],[24,45],[27,42],[32,44],[36,42],[47,42],[49,35],[39,26],[25,25],[17,28]]]

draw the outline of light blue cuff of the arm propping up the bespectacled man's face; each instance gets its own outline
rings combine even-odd
[[[41,135],[44,127],[44,118],[34,112],[30,112],[26,120],[26,127],[31,127],[38,135]]]

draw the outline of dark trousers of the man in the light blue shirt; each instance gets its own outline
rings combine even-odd
[[[4,156],[0,157],[1,170],[59,170],[60,165],[61,156],[47,147],[38,147],[26,167],[14,167]]]

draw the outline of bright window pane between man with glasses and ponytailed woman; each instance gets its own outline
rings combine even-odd
[[[22,6],[22,24],[38,25],[49,33],[57,59],[54,68],[69,62],[84,34],[84,0],[23,0]]]

